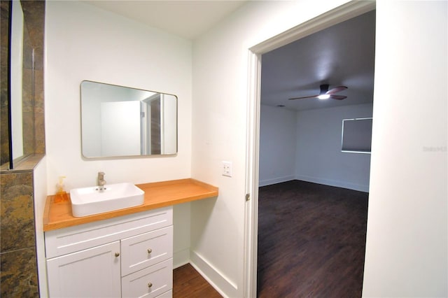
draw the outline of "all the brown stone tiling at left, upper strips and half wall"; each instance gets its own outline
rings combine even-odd
[[[8,15],[1,1],[3,17]],[[34,234],[34,166],[45,153],[43,115],[43,32],[45,1],[20,1],[25,20],[23,69],[24,152],[31,157],[13,170],[1,169],[0,175],[0,297],[38,297],[36,268],[36,237]],[[1,39],[3,66],[3,36]],[[33,58],[34,53],[34,58]],[[7,61],[7,59],[6,59]],[[1,160],[3,158],[3,128],[7,127],[7,76],[1,71]],[[6,94],[6,96],[5,96]],[[5,102],[6,101],[6,104]],[[7,139],[7,136],[6,136]],[[8,143],[6,143],[7,148]],[[6,156],[6,160],[8,155]]]

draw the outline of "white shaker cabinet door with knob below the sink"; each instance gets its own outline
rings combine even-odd
[[[50,297],[120,297],[120,241],[47,260]]]

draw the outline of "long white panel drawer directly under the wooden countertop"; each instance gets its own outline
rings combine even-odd
[[[45,232],[47,258],[74,253],[173,224],[172,206]]]

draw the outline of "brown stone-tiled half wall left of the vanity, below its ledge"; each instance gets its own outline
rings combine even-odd
[[[1,297],[38,297],[32,176],[1,175]]]

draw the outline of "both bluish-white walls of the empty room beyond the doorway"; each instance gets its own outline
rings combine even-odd
[[[370,154],[341,152],[342,120],[372,117],[372,104],[288,111],[261,106],[260,178],[298,179],[368,192]]]

